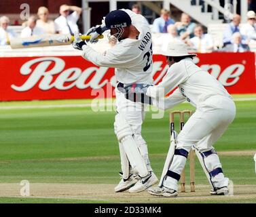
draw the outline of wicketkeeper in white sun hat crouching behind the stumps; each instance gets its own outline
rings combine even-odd
[[[196,66],[184,43],[170,43],[162,52],[170,68],[162,82],[155,86],[134,84],[126,87],[126,96],[142,94],[162,109],[170,109],[185,100],[196,107],[183,130],[172,134],[168,165],[158,187],[149,189],[151,195],[176,197],[178,181],[185,167],[187,155],[194,146],[198,159],[211,184],[212,195],[228,193],[229,179],[225,178],[213,144],[225,132],[236,115],[236,106],[223,85],[207,71]],[[164,96],[178,87],[168,98]],[[161,94],[162,92],[162,98]]]

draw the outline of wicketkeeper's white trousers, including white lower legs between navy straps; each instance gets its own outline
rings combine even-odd
[[[212,96],[205,100],[196,112],[185,123],[183,130],[177,136],[177,149],[185,149],[189,152],[191,146],[196,146],[201,152],[213,149],[213,144],[225,132],[236,115],[236,106],[232,99],[224,96]],[[186,158],[175,155],[169,170],[181,174],[186,163]],[[218,155],[206,158],[208,171],[221,167]],[[164,186],[177,190],[177,180],[167,177]],[[223,173],[213,178],[216,187],[225,186],[227,178]]]

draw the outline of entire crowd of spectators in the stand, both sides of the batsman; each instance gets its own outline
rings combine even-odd
[[[141,8],[135,4],[132,11],[141,14]],[[0,45],[10,44],[10,39],[14,37],[29,37],[42,34],[71,34],[79,31],[77,21],[81,15],[81,7],[61,5],[60,16],[55,20],[49,19],[49,11],[46,7],[39,7],[36,16],[31,16],[22,24],[20,35],[8,28],[10,19],[7,16],[0,17]],[[162,9],[160,17],[153,20],[151,30],[154,35],[158,35],[153,41],[154,45],[161,50],[166,48],[166,44],[171,41],[183,41],[198,53],[208,52],[248,52],[249,42],[256,41],[256,14],[249,11],[247,22],[240,28],[240,16],[234,15],[233,20],[227,24],[223,32],[223,47],[215,47],[211,35],[204,33],[204,27],[191,21],[188,14],[181,14],[181,19],[177,22],[170,18],[170,12]],[[160,34],[161,33],[161,34]],[[165,33],[165,34],[162,34]]]

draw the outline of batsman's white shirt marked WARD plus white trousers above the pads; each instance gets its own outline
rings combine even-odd
[[[149,24],[145,18],[129,9],[123,9],[132,25],[139,31],[138,39],[123,39],[105,54],[100,54],[89,45],[84,45],[82,56],[98,66],[114,67],[118,82],[153,83],[152,72],[152,40]],[[115,88],[116,110],[130,124],[134,135],[141,138],[141,125],[145,117],[144,104],[131,102],[124,93]],[[136,136],[134,137],[136,138]]]

